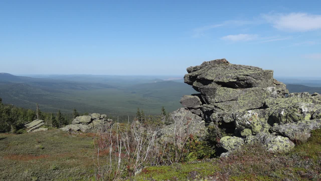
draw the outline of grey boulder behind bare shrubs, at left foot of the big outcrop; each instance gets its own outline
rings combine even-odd
[[[173,139],[174,132],[179,134],[180,138],[186,138],[190,134],[203,138],[207,134],[204,120],[190,110],[180,108],[170,113],[168,119],[172,124],[166,125],[158,131],[157,136],[160,139]]]

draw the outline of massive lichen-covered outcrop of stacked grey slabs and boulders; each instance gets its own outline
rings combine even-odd
[[[219,59],[189,67],[187,72],[185,83],[200,93],[184,95],[180,102],[185,110],[170,117],[185,112],[189,120],[198,120],[199,128],[218,121],[222,128],[232,129],[231,137],[221,138],[225,156],[254,142],[272,152],[286,152],[293,148],[293,140],[306,141],[311,130],[321,128],[321,96],[289,94],[272,70]]]

